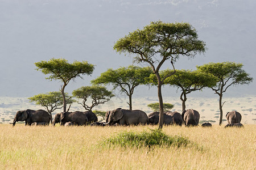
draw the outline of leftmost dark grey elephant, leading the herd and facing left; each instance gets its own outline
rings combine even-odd
[[[52,116],[46,111],[38,110],[34,111],[31,109],[27,109],[26,111],[18,111],[14,117],[13,126],[15,126],[16,122],[25,121],[25,125],[31,126],[34,122],[46,122],[49,125],[51,121],[52,124]]]

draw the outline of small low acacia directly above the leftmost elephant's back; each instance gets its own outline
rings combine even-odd
[[[71,104],[75,102],[75,100],[73,100],[71,96],[68,96],[67,93],[65,93],[65,98],[67,99],[67,104],[69,104],[70,108]],[[63,108],[63,97],[59,91],[38,94],[33,97],[29,97],[28,99],[30,102],[34,101],[37,105],[41,105],[42,107],[46,108],[47,112],[51,115],[56,109]]]

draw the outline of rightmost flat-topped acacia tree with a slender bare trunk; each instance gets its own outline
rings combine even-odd
[[[211,87],[215,94],[219,96],[219,107],[220,107],[220,122],[222,124],[223,111],[222,107],[225,103],[222,103],[223,94],[232,85],[238,84],[249,84],[253,81],[253,78],[249,76],[242,69],[242,63],[235,62],[222,62],[222,63],[208,63],[203,66],[197,66],[197,69],[204,73],[210,73],[217,79],[217,84]]]

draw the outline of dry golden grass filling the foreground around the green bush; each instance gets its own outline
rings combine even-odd
[[[100,143],[121,131],[157,126],[42,127],[0,125],[0,169],[256,169],[256,125],[165,126],[193,147],[122,148]]]

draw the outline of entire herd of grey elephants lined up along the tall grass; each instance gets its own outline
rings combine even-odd
[[[181,114],[178,112],[165,112],[163,115],[164,125],[178,125],[182,126],[198,126],[200,114],[196,110],[184,110]],[[243,127],[241,122],[241,114],[236,111],[228,112],[226,119],[228,120],[227,127]],[[156,125],[159,122],[159,112],[152,112],[146,114],[141,110],[127,110],[122,108],[114,109],[113,111],[106,112],[106,122],[98,122],[96,114],[92,111],[86,112],[61,112],[55,115],[52,120],[51,114],[43,110],[33,111],[27,109],[26,111],[18,111],[14,117],[13,126],[16,122],[25,121],[25,125],[55,125],[60,123],[61,126],[72,125],[90,125],[90,126],[113,126],[113,125]],[[206,122],[201,125],[202,127],[211,127],[212,124]]]

